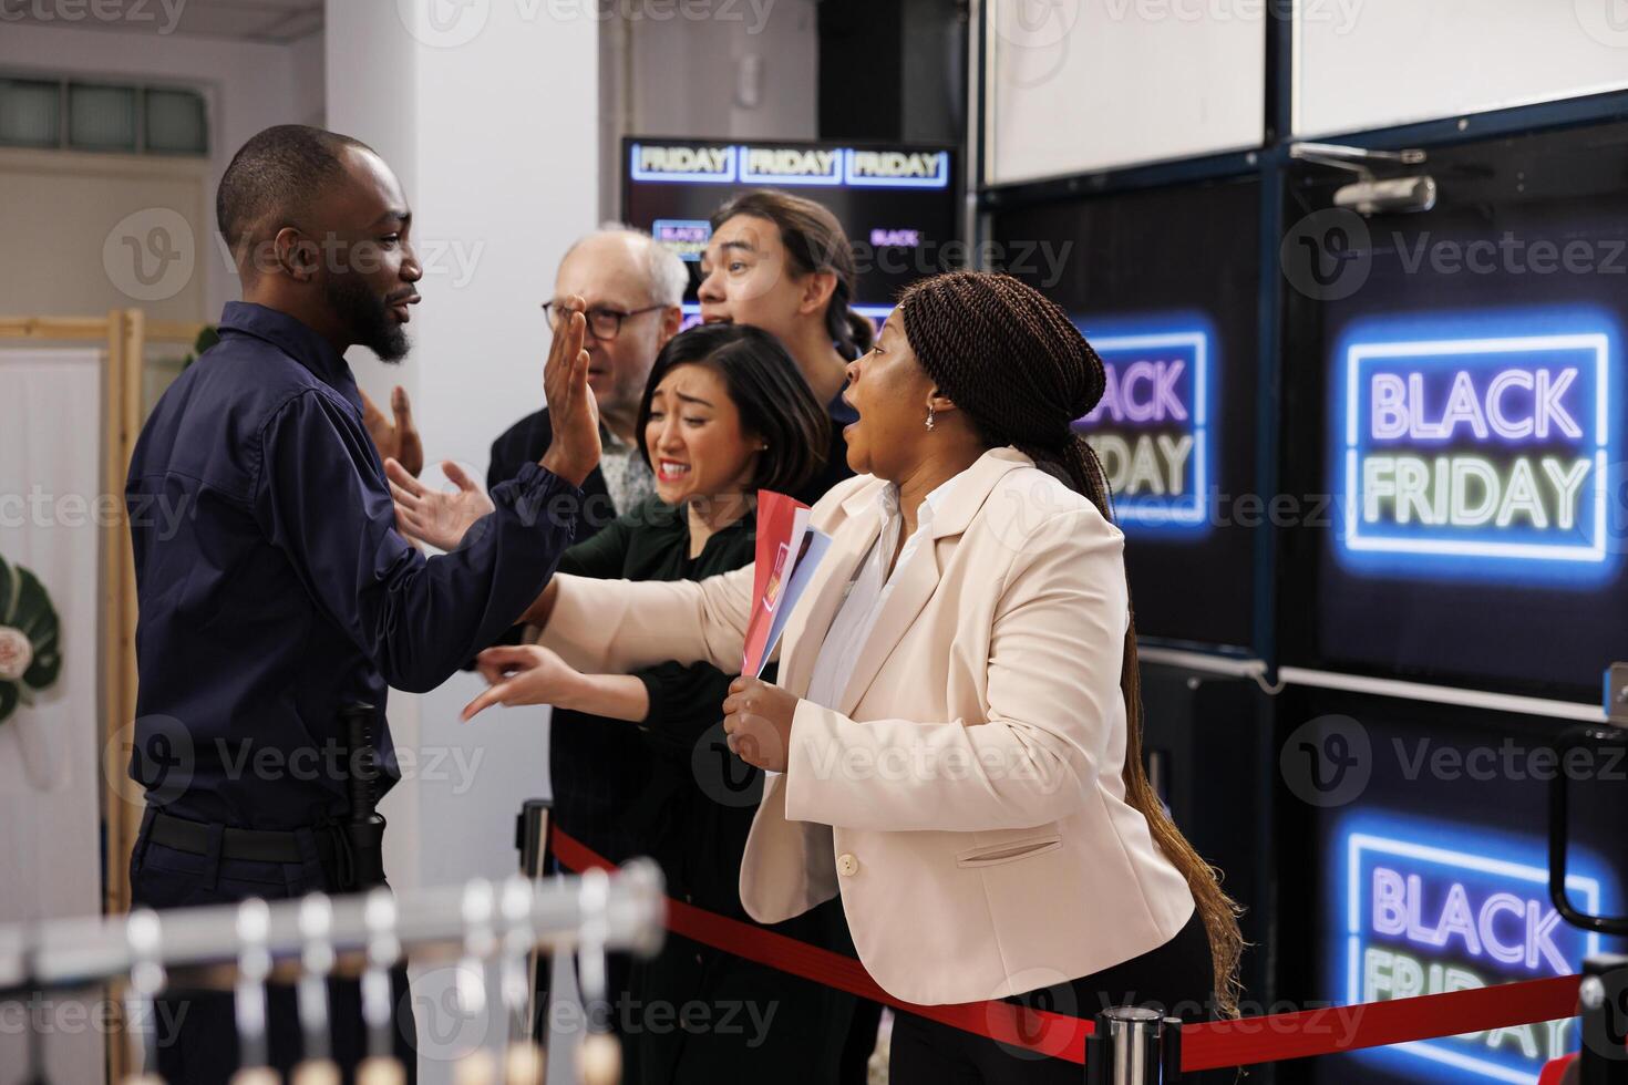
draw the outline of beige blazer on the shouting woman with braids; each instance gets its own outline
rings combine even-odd
[[[860,477],[812,512],[832,548],[786,623],[803,696],[881,530]],[[842,895],[860,960],[921,1005],[1021,994],[1127,961],[1193,913],[1125,804],[1125,538],[1014,449],[957,477],[902,564],[835,711],[798,704],[741,900],[778,922]],[[741,667],[752,568],[702,582],[560,576],[540,641],[584,669]],[[1081,1012],[1089,1012],[1081,1007]]]

